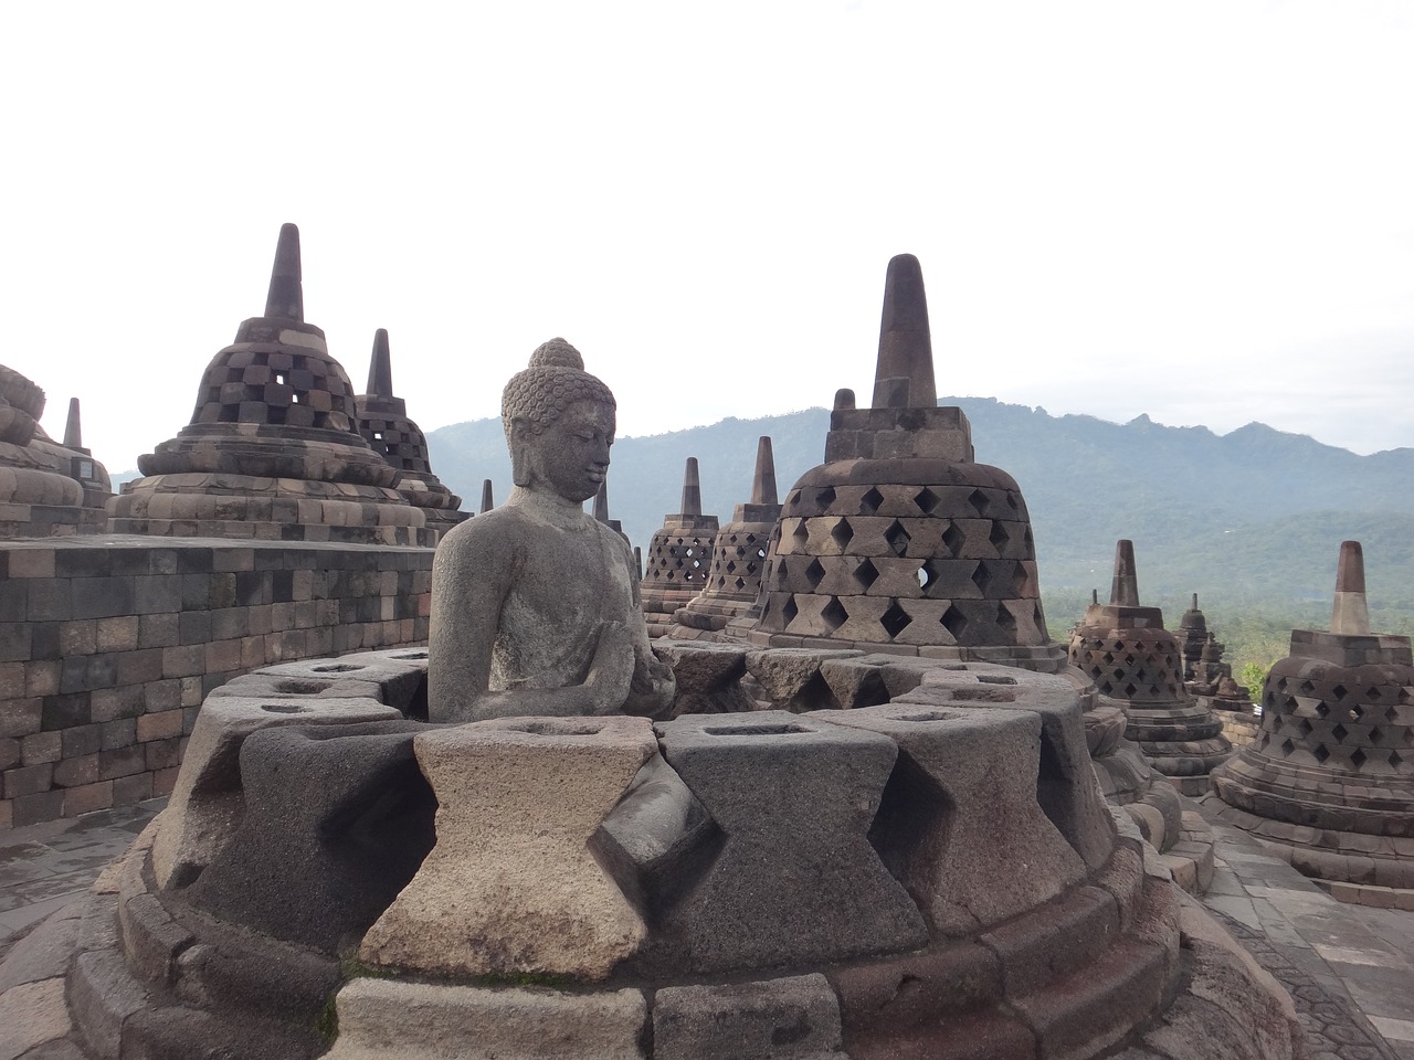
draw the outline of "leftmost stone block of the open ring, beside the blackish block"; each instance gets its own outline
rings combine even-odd
[[[393,707],[365,698],[208,697],[153,842],[158,886],[191,883],[235,834],[245,808],[240,745],[252,732],[276,725],[349,725],[400,718]]]

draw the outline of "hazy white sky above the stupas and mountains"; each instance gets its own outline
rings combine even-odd
[[[110,471],[300,225],[305,315],[424,430],[564,335],[619,432],[937,389],[1414,445],[1414,6],[0,6],[4,352]]]

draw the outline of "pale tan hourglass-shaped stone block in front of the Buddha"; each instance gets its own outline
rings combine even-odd
[[[414,741],[437,845],[363,960],[462,975],[601,979],[646,927],[588,842],[658,750],[643,718],[486,721]]]

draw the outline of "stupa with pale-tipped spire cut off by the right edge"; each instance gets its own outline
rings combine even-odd
[[[1291,630],[1261,707],[1206,806],[1338,899],[1414,909],[1414,657],[1370,633],[1359,541],[1340,546],[1331,632]]]

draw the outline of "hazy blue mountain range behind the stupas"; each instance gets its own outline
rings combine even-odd
[[[1365,544],[1372,609],[1414,615],[1414,449],[1357,457],[1258,423],[1226,435],[1164,427],[1147,416],[1113,424],[1092,416],[987,397],[945,397],[973,427],[977,459],[1017,479],[1031,512],[1041,585],[1069,602],[1109,596],[1114,541],[1134,540],[1140,592],[1169,628],[1200,594],[1217,609],[1260,603],[1329,605],[1339,543]],[[756,438],[769,434],[782,499],[824,452],[829,413],[728,418],[672,434],[621,438],[609,507],[638,546],[682,505],[683,465],[697,457],[703,510],[723,523],[749,499]],[[499,420],[427,435],[433,468],[475,510],[482,479],[496,500],[510,489]],[[1056,625],[1052,616],[1052,625]],[[1058,633],[1052,629],[1052,633]]]

